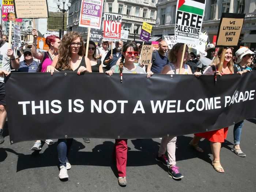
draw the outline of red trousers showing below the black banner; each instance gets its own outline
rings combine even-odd
[[[116,139],[116,167],[118,177],[126,176],[127,151],[127,139]]]

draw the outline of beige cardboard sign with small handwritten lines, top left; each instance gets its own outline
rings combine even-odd
[[[48,18],[47,0],[14,0],[16,18],[38,19]]]

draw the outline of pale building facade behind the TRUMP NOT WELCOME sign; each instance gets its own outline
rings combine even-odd
[[[68,13],[68,29],[78,31],[83,38],[87,38],[87,28],[79,27],[79,15],[81,8],[81,0],[71,0],[71,8]],[[113,13],[122,15],[122,29],[129,31],[129,40],[139,39],[142,23],[147,22],[155,25],[157,17],[157,0],[105,0],[103,13]],[[103,16],[102,16],[103,17]],[[135,28],[137,29],[135,30]],[[103,22],[101,30],[103,30]]]

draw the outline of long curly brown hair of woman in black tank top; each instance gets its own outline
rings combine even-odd
[[[70,47],[71,42],[74,41],[75,39],[77,39],[78,37],[80,38],[80,42],[82,44],[79,48],[78,54],[80,56],[84,55],[85,48],[84,48],[84,44],[83,44],[83,38],[79,35],[79,33],[75,32],[75,31],[71,31],[71,32],[65,34],[60,41],[59,54],[58,54],[59,59],[56,64],[57,69],[71,70],[71,67],[69,65],[69,61],[71,59],[70,58],[71,53],[70,53],[69,47]]]

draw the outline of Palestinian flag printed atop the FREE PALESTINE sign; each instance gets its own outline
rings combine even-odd
[[[178,10],[203,16],[205,0],[179,0]]]

